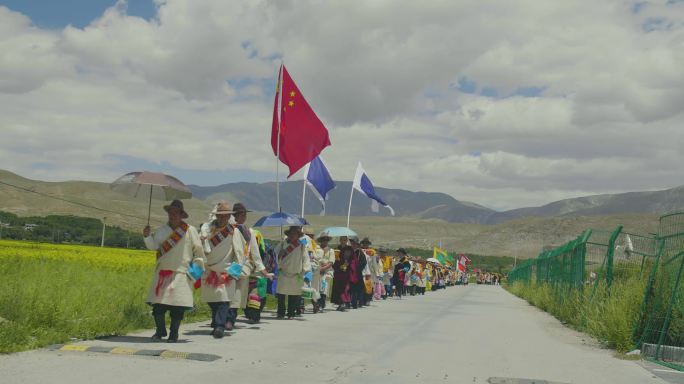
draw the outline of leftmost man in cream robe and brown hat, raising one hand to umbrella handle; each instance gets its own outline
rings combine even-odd
[[[166,337],[166,312],[171,315],[168,342],[178,341],[178,331],[185,311],[193,307],[194,280],[188,274],[191,264],[204,269],[204,249],[197,230],[185,223],[188,218],[183,202],[174,200],[164,206],[168,222],[154,233],[150,226],[143,229],[145,246],[157,251],[154,278],[147,294],[147,303],[152,306],[156,332],[152,340]]]

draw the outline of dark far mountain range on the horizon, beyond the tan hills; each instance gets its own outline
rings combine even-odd
[[[275,211],[275,183],[230,183],[215,187],[191,185],[195,197],[212,203],[222,199],[242,201],[256,211]],[[281,206],[285,212],[301,213],[302,181],[280,184]],[[351,182],[338,181],[329,193],[326,214],[346,216]],[[411,192],[402,189],[376,188],[382,198],[394,208],[397,216],[419,219],[441,219],[452,223],[499,224],[525,217],[564,217],[619,215],[632,213],[662,214],[684,210],[684,187],[661,191],[627,192],[577,197],[555,201],[539,207],[495,211],[485,206],[461,201],[439,192]],[[305,213],[317,214],[321,203],[307,189]],[[370,200],[358,192],[352,199],[352,216],[389,216],[389,210],[370,209]]]

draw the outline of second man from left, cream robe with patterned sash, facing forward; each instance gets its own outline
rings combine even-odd
[[[200,292],[202,301],[211,308],[212,335],[220,339],[226,324],[230,323],[230,303],[235,297],[236,283],[228,274],[228,268],[244,252],[244,241],[230,222],[233,211],[228,203],[218,203],[212,214],[215,219],[201,227],[207,270],[202,276]]]

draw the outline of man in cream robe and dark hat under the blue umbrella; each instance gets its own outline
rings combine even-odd
[[[285,231],[287,236],[276,246],[275,254],[278,265],[278,283],[276,285],[276,297],[278,298],[278,319],[295,317],[297,307],[302,295],[303,283],[310,280],[305,276],[311,271],[309,255],[306,253],[306,242],[302,238],[302,227],[292,226]],[[287,307],[285,305],[287,298]]]

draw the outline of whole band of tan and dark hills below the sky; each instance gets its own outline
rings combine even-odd
[[[147,195],[131,197],[112,192],[109,184],[88,181],[44,182],[23,178],[0,170],[0,182],[26,188],[32,193],[0,183],[0,211],[21,217],[74,215],[101,220],[140,233],[147,215]],[[299,213],[302,182],[281,185],[286,211]],[[338,182],[328,201],[326,216],[318,216],[320,204],[307,191],[306,218],[312,231],[346,224],[349,182]],[[233,183],[217,187],[192,186],[195,197],[185,200],[189,222],[198,225],[207,218],[211,203],[221,198],[242,201],[257,211],[249,215],[253,223],[265,212],[275,209],[274,183]],[[658,215],[684,209],[684,188],[657,192],[631,192],[567,199],[542,207],[494,212],[474,203],[458,201],[443,193],[410,192],[378,188],[394,206],[396,217],[370,210],[370,201],[354,194],[351,227],[374,244],[387,247],[429,249],[442,242],[454,251],[481,255],[533,257],[544,245],[559,245],[575,238],[584,229],[613,229],[621,224],[632,233],[657,230]],[[62,200],[69,200],[68,203]],[[152,224],[165,220],[162,205],[153,200]],[[102,209],[111,212],[104,212]],[[131,215],[131,216],[127,216]],[[280,236],[278,228],[263,229],[267,238]]]

